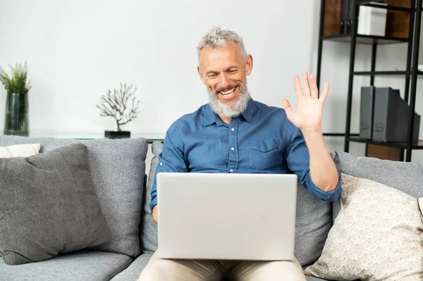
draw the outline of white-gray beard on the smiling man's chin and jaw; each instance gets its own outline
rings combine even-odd
[[[212,107],[214,113],[222,117],[232,118],[239,116],[245,111],[251,96],[248,92],[247,85],[240,84],[239,87],[240,96],[233,106],[226,105],[217,97],[218,94],[210,92],[209,89],[207,89],[207,93],[209,94],[209,105]]]

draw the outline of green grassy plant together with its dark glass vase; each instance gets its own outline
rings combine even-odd
[[[4,116],[4,135],[29,135],[28,92],[31,89],[27,82],[27,62],[9,65],[11,76],[0,67],[0,82],[6,89],[6,111]]]

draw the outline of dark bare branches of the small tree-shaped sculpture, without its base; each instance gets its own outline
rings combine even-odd
[[[97,108],[101,111],[100,116],[111,116],[116,120],[116,132],[121,131],[121,126],[137,118],[138,106],[140,101],[137,101],[134,94],[137,88],[133,89],[133,85],[127,86],[126,83],[122,85],[121,89],[114,89],[113,93],[107,90],[106,94],[100,96],[102,103],[97,104]],[[128,108],[128,101],[132,101],[132,106]]]

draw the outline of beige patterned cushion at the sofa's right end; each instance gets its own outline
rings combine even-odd
[[[329,280],[423,280],[423,220],[417,199],[342,174],[341,212],[306,275]]]

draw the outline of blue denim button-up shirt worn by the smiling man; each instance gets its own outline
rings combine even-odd
[[[245,111],[224,123],[208,104],[183,115],[166,132],[154,176],[150,208],[157,205],[157,173],[295,173],[323,201],[336,201],[338,185],[324,192],[312,182],[302,132],[282,108],[250,99]]]

